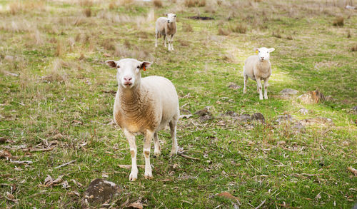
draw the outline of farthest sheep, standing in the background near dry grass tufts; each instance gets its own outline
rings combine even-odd
[[[169,13],[167,17],[161,16],[156,20],[155,28],[155,47],[157,47],[157,39],[163,35],[164,36],[164,46],[166,47],[166,36],[169,41],[168,50],[174,50],[172,41],[174,35],[176,34],[176,14]],[[171,36],[171,37],[170,37]]]

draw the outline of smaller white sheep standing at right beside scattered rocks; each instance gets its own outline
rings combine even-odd
[[[244,62],[243,66],[243,77],[244,77],[244,88],[243,93],[246,93],[246,83],[248,82],[248,77],[253,81],[256,81],[257,90],[259,93],[259,99],[263,99],[263,93],[261,91],[261,80],[264,81],[264,98],[268,99],[268,80],[271,76],[271,63],[269,61],[270,53],[274,51],[274,48],[267,49],[254,48],[254,51],[258,51],[258,55],[249,56]]]

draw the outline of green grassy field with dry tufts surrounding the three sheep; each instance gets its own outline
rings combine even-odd
[[[356,204],[357,177],[347,168],[357,168],[357,10],[331,0],[195,1],[0,0],[0,208],[80,208],[95,178],[123,188],[112,208],[137,200],[144,208]],[[170,52],[161,40],[154,48],[155,20],[167,12],[178,16]],[[188,19],[198,15],[214,19]],[[228,88],[243,86],[243,61],[261,46],[276,49],[265,101],[254,81],[245,95]],[[178,123],[178,146],[197,160],[169,157],[169,131],[161,131],[154,179],[139,168],[129,182],[130,170],[118,166],[131,164],[129,144],[111,123],[116,71],[104,64],[120,58],[153,61],[142,76],[171,79],[182,113],[208,106],[213,120]],[[318,88],[331,99],[305,105],[280,98],[283,88]],[[266,123],[236,123],[226,111],[260,112]],[[296,132],[273,123],[282,114],[335,126]],[[144,165],[142,136],[137,144]],[[44,187],[47,175],[62,175],[62,184]]]

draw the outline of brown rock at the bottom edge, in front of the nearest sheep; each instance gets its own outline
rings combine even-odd
[[[88,208],[89,205],[101,205],[118,196],[121,191],[121,188],[115,183],[96,178],[91,181],[89,187],[84,192],[81,200],[82,208]]]

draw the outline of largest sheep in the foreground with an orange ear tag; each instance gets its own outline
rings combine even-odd
[[[118,91],[114,101],[114,122],[121,128],[129,142],[131,173],[129,180],[138,178],[136,165],[136,133],[144,134],[145,178],[153,178],[150,164],[150,146],[154,137],[154,155],[160,156],[158,131],[169,123],[172,138],[171,156],[177,154],[176,124],[180,115],[175,86],[169,79],[160,76],[141,78],[151,66],[149,61],[124,58],[109,60],[106,64],[116,68]]]

